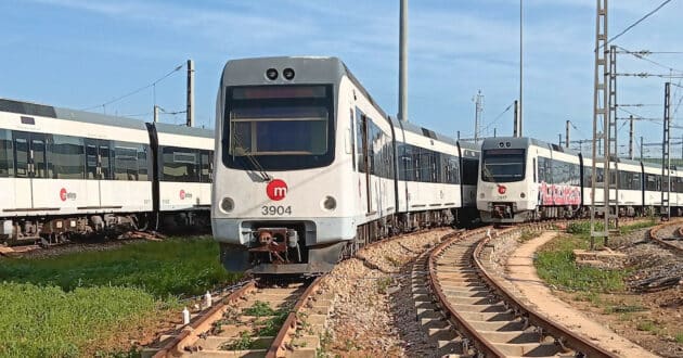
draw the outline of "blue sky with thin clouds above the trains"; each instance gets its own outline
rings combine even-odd
[[[609,31],[616,35],[661,0],[609,2]],[[588,139],[595,1],[525,0],[524,4],[525,136],[556,142],[570,119],[576,126],[572,139]],[[472,137],[473,97],[481,90],[484,135],[492,135],[493,128],[499,136],[512,133],[512,110],[503,112],[518,95],[518,0],[410,2],[410,122]],[[396,114],[398,108],[398,0],[3,0],[0,13],[0,97],[4,98],[93,107],[150,85],[193,59],[197,125],[212,127],[225,61],[334,55],[347,63],[387,113]],[[633,51],[683,51],[681,14],[683,1],[674,0],[615,43]],[[618,71],[668,74],[668,68],[683,68],[683,54],[648,59],[663,68],[620,54]],[[618,103],[647,104],[624,108],[661,118],[665,81],[620,77]],[[155,100],[168,112],[183,111],[184,86],[183,68],[154,91],[146,89],[106,106],[106,113],[151,119]],[[672,93],[675,106],[683,89],[673,87]],[[620,112],[620,116],[628,114]],[[164,115],[162,120],[180,124],[184,115]],[[619,135],[626,144],[628,125]],[[680,129],[672,131],[673,137],[682,135]],[[661,124],[639,122],[636,136],[658,142]],[[672,153],[680,155],[680,151]],[[652,148],[650,154],[655,152],[659,150]]]

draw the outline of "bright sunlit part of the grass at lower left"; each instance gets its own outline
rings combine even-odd
[[[77,287],[0,283],[0,356],[79,357],[98,342],[133,332],[154,319],[162,305],[138,289]]]

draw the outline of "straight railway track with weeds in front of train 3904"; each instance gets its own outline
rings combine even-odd
[[[323,280],[282,286],[249,281],[143,356],[315,357],[331,307]]]

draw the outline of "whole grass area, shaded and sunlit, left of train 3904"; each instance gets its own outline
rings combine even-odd
[[[177,316],[179,298],[241,278],[218,255],[204,236],[1,258],[0,356],[128,356],[131,338]]]

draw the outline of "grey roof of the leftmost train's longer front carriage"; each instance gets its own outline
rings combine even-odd
[[[92,123],[105,126],[133,128],[146,130],[145,124],[139,119],[109,116],[105,114],[83,112],[69,108],[60,108],[51,105],[30,102],[0,99],[0,111],[23,114],[27,116],[40,116],[56,119],[68,119],[83,123]]]

